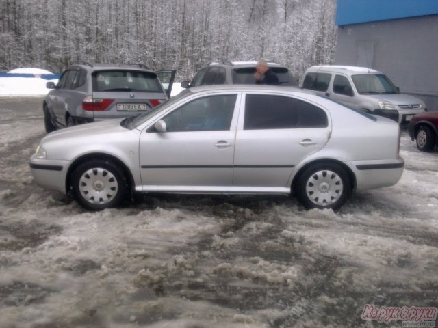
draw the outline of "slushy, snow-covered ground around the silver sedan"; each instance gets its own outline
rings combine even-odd
[[[0,327],[401,327],[438,304],[438,152],[339,213],[289,197],[151,195],[89,213],[36,187],[42,98],[0,98]]]

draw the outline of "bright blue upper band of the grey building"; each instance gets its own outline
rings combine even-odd
[[[438,0],[337,0],[336,25],[438,14]]]

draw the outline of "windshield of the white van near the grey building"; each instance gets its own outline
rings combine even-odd
[[[396,86],[383,74],[352,75],[359,94],[398,94]]]

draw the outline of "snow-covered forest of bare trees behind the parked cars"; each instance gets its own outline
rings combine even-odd
[[[0,70],[142,63],[190,78],[214,60],[333,63],[335,0],[0,0]]]

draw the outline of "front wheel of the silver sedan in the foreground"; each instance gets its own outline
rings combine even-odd
[[[72,174],[72,187],[75,200],[88,210],[117,207],[129,190],[123,171],[103,159],[81,163]]]

